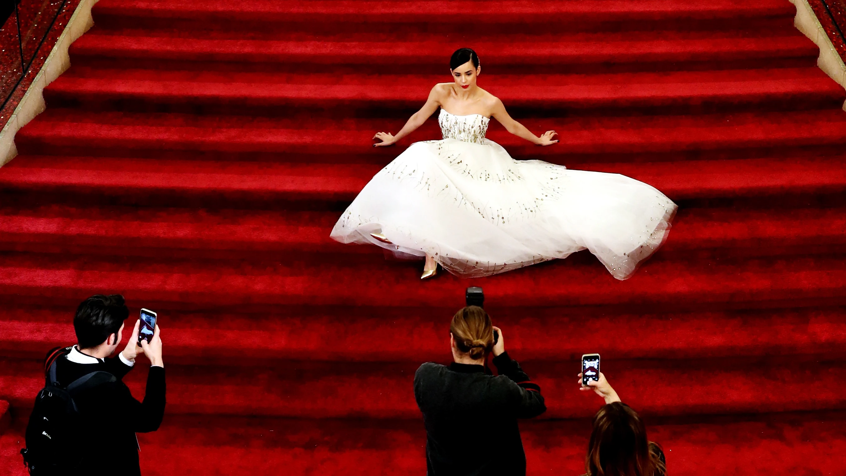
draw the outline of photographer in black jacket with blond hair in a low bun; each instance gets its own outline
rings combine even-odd
[[[450,346],[453,364],[429,362],[415,374],[415,397],[426,424],[426,473],[525,474],[517,419],[547,410],[541,387],[508,357],[503,331],[481,307],[468,306],[453,316]],[[486,372],[489,352],[498,376]]]

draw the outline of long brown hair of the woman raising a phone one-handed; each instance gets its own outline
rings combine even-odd
[[[629,405],[604,405],[593,417],[587,476],[664,476],[661,447],[646,439],[643,420]]]

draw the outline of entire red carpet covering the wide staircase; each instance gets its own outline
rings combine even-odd
[[[411,380],[448,363],[482,286],[543,387],[529,473],[580,474],[597,397],[582,353],[642,413],[671,474],[844,474],[846,99],[787,0],[102,0],[0,169],[0,474],[74,342],[76,304],[159,312],[168,415],[146,474],[421,474]],[[679,204],[618,282],[590,254],[478,280],[329,231],[458,47],[533,131],[519,159],[620,172]],[[129,377],[141,396],[143,365]],[[132,418],[122,415],[122,419]]]

